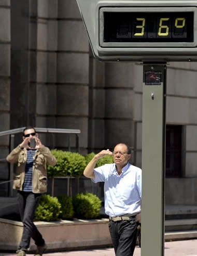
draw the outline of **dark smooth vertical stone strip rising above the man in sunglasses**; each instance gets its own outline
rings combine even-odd
[[[30,121],[29,63],[29,1],[11,0],[11,129]]]

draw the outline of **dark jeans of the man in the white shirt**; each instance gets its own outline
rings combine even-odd
[[[129,221],[109,220],[109,233],[116,256],[132,256],[137,240],[137,224],[135,216]]]

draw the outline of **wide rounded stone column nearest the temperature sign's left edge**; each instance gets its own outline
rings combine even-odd
[[[57,127],[80,129],[80,153],[83,153],[88,145],[88,36],[76,1],[58,3]],[[65,146],[62,135],[58,136],[57,146]]]

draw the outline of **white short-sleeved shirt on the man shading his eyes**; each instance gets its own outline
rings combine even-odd
[[[141,211],[142,170],[128,163],[118,175],[115,163],[94,169],[94,183],[104,182],[105,213],[121,216]]]

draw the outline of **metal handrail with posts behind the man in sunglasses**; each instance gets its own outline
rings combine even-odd
[[[10,146],[10,151],[14,148],[15,134],[23,132],[24,129],[25,129],[25,127],[20,127],[20,128],[17,128],[17,129],[11,129],[11,130],[0,132],[0,137],[10,135],[10,145],[9,145]],[[77,151],[79,152],[79,137],[78,137],[78,134],[81,133],[80,130],[78,130],[78,129],[40,128],[40,127],[34,127],[34,129],[35,129],[36,132],[39,132],[39,133],[75,134],[75,136],[76,136],[76,148],[77,148]],[[68,150],[71,151],[70,138],[69,138],[69,141],[68,141]],[[4,159],[1,159],[1,160],[4,160]],[[10,183],[10,182],[13,181],[13,163],[10,163],[9,177],[10,177],[9,181],[0,182],[0,184]],[[10,196],[12,196],[12,186],[11,185],[12,184],[9,185],[9,195]]]

